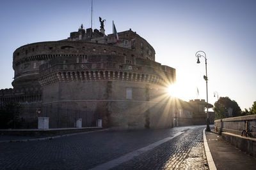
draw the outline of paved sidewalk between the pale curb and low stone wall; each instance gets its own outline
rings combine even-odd
[[[255,169],[256,158],[224,141],[219,134],[206,132],[207,143],[211,151],[212,158],[218,170],[221,169]]]

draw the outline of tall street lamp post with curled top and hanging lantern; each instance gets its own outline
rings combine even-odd
[[[204,76],[204,80],[206,82],[206,102],[207,102],[207,120],[206,120],[206,131],[210,132],[210,120],[209,120],[209,112],[208,112],[208,77],[207,77],[207,59],[206,59],[206,54],[203,51],[198,51],[196,52],[196,57],[197,57],[197,64],[200,63],[199,58],[200,57],[204,57],[205,59],[205,71],[206,71],[206,75]]]

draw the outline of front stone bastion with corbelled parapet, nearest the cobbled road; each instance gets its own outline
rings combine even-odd
[[[165,88],[175,81],[173,75],[175,69],[152,60],[63,56],[40,66],[39,82],[44,87],[42,104],[94,111],[104,126],[170,127],[166,117],[172,110],[164,111],[168,103],[161,98],[167,97]]]

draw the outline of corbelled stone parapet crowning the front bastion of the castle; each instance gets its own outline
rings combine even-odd
[[[56,81],[143,81],[160,85],[175,81],[175,69],[161,64],[139,59],[141,65],[125,62],[124,56],[95,55],[87,57],[59,57],[40,66],[40,85]],[[148,62],[148,63],[147,63]]]

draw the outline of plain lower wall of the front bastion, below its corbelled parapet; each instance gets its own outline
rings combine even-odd
[[[157,99],[164,99],[157,87],[131,81],[55,82],[44,87],[43,105],[93,112],[105,127],[170,127],[172,121],[166,117],[171,117],[172,110],[164,111],[170,106]],[[131,89],[131,98],[127,89]]]

